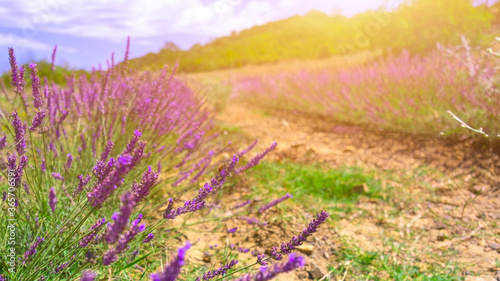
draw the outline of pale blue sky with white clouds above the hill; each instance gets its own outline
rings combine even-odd
[[[18,61],[49,59],[90,69],[121,60],[127,36],[131,57],[158,52],[165,42],[182,49],[254,25],[310,10],[352,16],[368,9],[391,10],[402,0],[0,0],[0,72],[8,70],[7,48]]]

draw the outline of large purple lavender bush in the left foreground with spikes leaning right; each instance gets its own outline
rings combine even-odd
[[[4,87],[0,102],[0,280],[130,277],[139,262],[150,262],[152,273],[160,266],[155,255],[162,252],[152,249],[153,242],[170,241],[168,233],[155,231],[206,208],[228,178],[257,165],[276,146],[241,167],[239,158],[254,145],[224,159],[230,147],[218,144],[208,107],[166,68],[157,75],[128,69],[128,44],[122,63],[112,59],[107,70],[68,77],[64,88],[40,81],[35,64],[19,66],[13,49],[9,59],[13,93]],[[215,176],[197,190],[212,171]],[[183,196],[194,198],[178,202]],[[318,214],[302,234],[273,248],[271,256],[259,255],[255,264],[281,260],[327,217]],[[188,245],[151,279],[176,280]],[[204,279],[222,276],[236,263]],[[292,255],[283,265],[241,278],[270,280],[302,265]],[[133,278],[147,278],[146,273]]]

